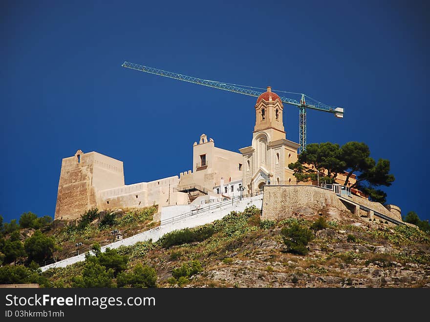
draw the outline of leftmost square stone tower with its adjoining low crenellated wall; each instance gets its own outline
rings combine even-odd
[[[174,190],[177,175],[132,185],[124,183],[123,162],[97,152],[78,150],[64,158],[58,184],[55,219],[79,218],[92,207],[143,208],[187,204],[188,195]]]

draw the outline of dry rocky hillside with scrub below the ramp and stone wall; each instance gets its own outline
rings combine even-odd
[[[125,273],[139,264],[153,267],[157,287],[430,286],[430,236],[420,230],[386,228],[348,212],[296,214],[280,222],[259,217],[257,208],[232,212],[156,243],[122,247],[118,254],[127,255]],[[285,245],[284,231],[292,226],[310,234],[306,255]],[[51,269],[44,276],[54,287],[73,287],[85,265]],[[112,285],[116,282],[112,277]]]

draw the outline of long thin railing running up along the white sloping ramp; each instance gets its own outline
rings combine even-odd
[[[263,192],[262,191],[257,191],[255,193],[243,194],[242,196],[238,195],[238,196],[235,196],[234,198],[229,199],[229,200],[221,201],[221,202],[218,202],[218,203],[213,203],[213,204],[210,204],[210,205],[208,205],[206,207],[193,209],[193,210],[191,210],[191,211],[189,211],[187,213],[184,213],[184,214],[181,214],[181,215],[177,215],[177,216],[173,216],[172,218],[168,218],[168,219],[165,219],[165,220],[161,220],[159,222],[159,225],[157,225],[157,226],[154,226],[154,227],[151,227],[151,226],[145,227],[145,229],[136,231],[132,235],[126,235],[126,234],[124,234],[123,236],[127,236],[127,237],[123,237],[123,239],[124,238],[129,238],[129,237],[132,237],[132,236],[135,236],[135,235],[138,235],[138,234],[141,234],[141,233],[143,233],[145,231],[148,231],[148,230],[150,230],[152,228],[155,228],[155,227],[161,227],[163,225],[167,225],[167,224],[170,224],[170,223],[173,224],[175,221],[182,220],[184,218],[191,217],[191,216],[194,216],[194,215],[200,215],[200,214],[203,214],[205,212],[209,212],[210,210],[222,209],[222,207],[227,207],[228,205],[233,205],[235,201],[240,201],[242,199],[254,197],[254,196],[257,196],[257,195],[263,195]],[[115,241],[118,241],[118,240],[115,240]],[[104,240],[104,241],[100,242],[99,244],[100,244],[101,247],[103,247],[103,246],[106,246],[108,244],[111,244],[112,242],[113,242],[112,240]],[[84,246],[84,247],[82,247],[82,248],[79,249],[79,255],[84,255],[85,253],[87,253],[91,249],[92,249],[92,245]],[[67,258],[72,258],[72,257],[78,256],[77,253],[78,253],[78,250],[72,251],[72,252],[67,253],[67,256],[65,258],[58,258],[58,257],[57,258],[52,258],[52,259],[43,260],[41,262],[38,262],[38,264],[41,267],[42,266],[46,266],[46,265],[49,265],[49,264],[56,263],[57,261],[60,261],[60,260],[64,260],[64,259],[67,259]]]

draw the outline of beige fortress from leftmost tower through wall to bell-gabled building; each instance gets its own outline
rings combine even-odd
[[[186,205],[212,194],[223,182],[241,180],[242,155],[215,147],[205,134],[193,146],[193,172],[126,185],[123,162],[97,152],[78,150],[64,158],[58,184],[55,219],[79,218],[88,209]],[[220,193],[222,194],[222,193]]]

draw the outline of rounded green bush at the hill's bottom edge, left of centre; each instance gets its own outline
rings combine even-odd
[[[119,287],[130,286],[137,288],[155,287],[157,281],[157,273],[150,266],[142,266],[137,264],[132,272],[120,273],[116,279]]]

